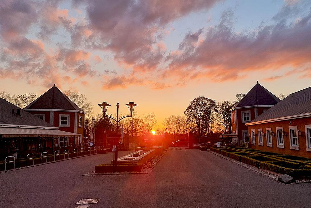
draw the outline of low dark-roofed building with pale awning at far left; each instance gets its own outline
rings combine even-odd
[[[0,98],[0,160],[7,156],[22,158],[30,153],[52,154],[60,150],[59,146],[54,146],[59,138],[66,138],[73,149],[73,141],[78,137],[81,134],[60,131],[58,127]]]

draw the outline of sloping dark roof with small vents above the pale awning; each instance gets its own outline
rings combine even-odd
[[[15,110],[14,113],[12,109]],[[20,110],[20,115],[16,114],[17,109]],[[0,98],[0,124],[54,127],[2,98]]]

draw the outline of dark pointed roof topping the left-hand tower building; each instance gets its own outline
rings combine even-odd
[[[59,109],[82,111],[74,102],[72,102],[62,91],[55,85],[38,97],[34,102],[30,103],[24,110],[35,109]],[[82,111],[83,112],[83,111]]]

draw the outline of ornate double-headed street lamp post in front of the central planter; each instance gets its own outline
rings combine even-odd
[[[111,118],[112,120],[114,120],[117,123],[117,128],[116,128],[116,133],[118,133],[118,127],[119,127],[119,121],[127,118],[127,117],[132,117],[132,113],[134,111],[135,106],[137,106],[137,104],[135,104],[134,102],[129,102],[128,104],[126,104],[126,106],[128,106],[128,111],[130,111],[130,115],[125,115],[119,118],[119,102],[117,102],[117,118],[111,116],[111,115],[106,115],[106,111],[107,108],[110,106],[107,102],[102,102],[100,104],[98,104],[101,107],[101,111],[103,111],[103,115],[104,117],[108,117]],[[114,144],[115,145],[115,150],[114,150],[114,159],[113,159],[113,173],[115,173],[117,167],[118,167],[118,141],[116,141],[116,138],[114,138]]]

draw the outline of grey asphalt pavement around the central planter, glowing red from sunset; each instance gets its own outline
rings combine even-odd
[[[126,155],[127,152],[119,152]],[[311,184],[281,184],[210,152],[170,148],[149,174],[82,176],[112,153],[0,174],[2,207],[310,207]]]

